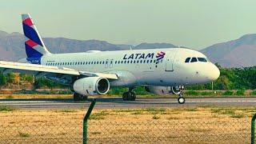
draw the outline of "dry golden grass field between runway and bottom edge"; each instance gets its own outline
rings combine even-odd
[[[206,109],[206,110],[204,110]],[[250,112],[229,108],[94,110],[87,143],[250,143]],[[0,112],[0,143],[82,143],[83,110]]]

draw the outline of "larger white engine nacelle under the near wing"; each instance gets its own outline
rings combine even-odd
[[[110,90],[110,82],[101,77],[80,78],[74,82],[73,90],[82,95],[102,95]]]

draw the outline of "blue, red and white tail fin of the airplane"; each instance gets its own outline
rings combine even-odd
[[[22,26],[23,32],[27,38],[25,42],[27,60],[30,59],[29,61],[32,62],[34,59],[41,59],[42,55],[50,54],[46,49],[45,44],[42,42],[42,38],[40,37],[30,14],[22,14]]]

